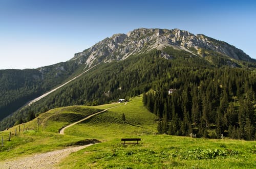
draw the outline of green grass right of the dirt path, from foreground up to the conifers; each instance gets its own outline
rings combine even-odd
[[[122,121],[124,113],[126,123]],[[73,153],[61,168],[252,168],[255,142],[156,135],[155,116],[141,97],[69,128],[66,133],[103,143]],[[76,131],[76,132],[74,132]],[[122,146],[121,138],[139,137],[139,145]]]

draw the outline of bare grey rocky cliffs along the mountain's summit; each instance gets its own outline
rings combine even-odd
[[[162,50],[166,46],[185,50],[193,55],[204,57],[203,50],[211,50],[226,55],[230,59],[250,61],[242,50],[202,34],[194,35],[178,29],[137,29],[126,34],[115,34],[91,48],[76,53],[71,60],[89,67],[100,62],[124,60],[132,54]]]

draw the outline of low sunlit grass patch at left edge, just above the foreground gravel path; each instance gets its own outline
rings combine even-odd
[[[0,160],[63,149],[85,140],[83,137],[28,130],[17,133],[17,136],[12,135],[9,142],[8,133],[0,133],[4,137],[4,147],[0,147]]]

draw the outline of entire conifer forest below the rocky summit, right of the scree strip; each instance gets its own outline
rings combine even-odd
[[[163,59],[163,52],[172,59]],[[232,62],[223,55],[202,58],[166,48],[100,64],[4,119],[0,127],[29,121],[55,107],[98,105],[144,93],[144,105],[158,116],[159,133],[251,140],[255,138],[255,63]],[[169,89],[174,89],[172,95]]]

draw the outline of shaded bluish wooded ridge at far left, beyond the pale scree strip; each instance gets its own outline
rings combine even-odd
[[[67,62],[38,69],[0,70],[0,120],[65,81],[77,68]]]

